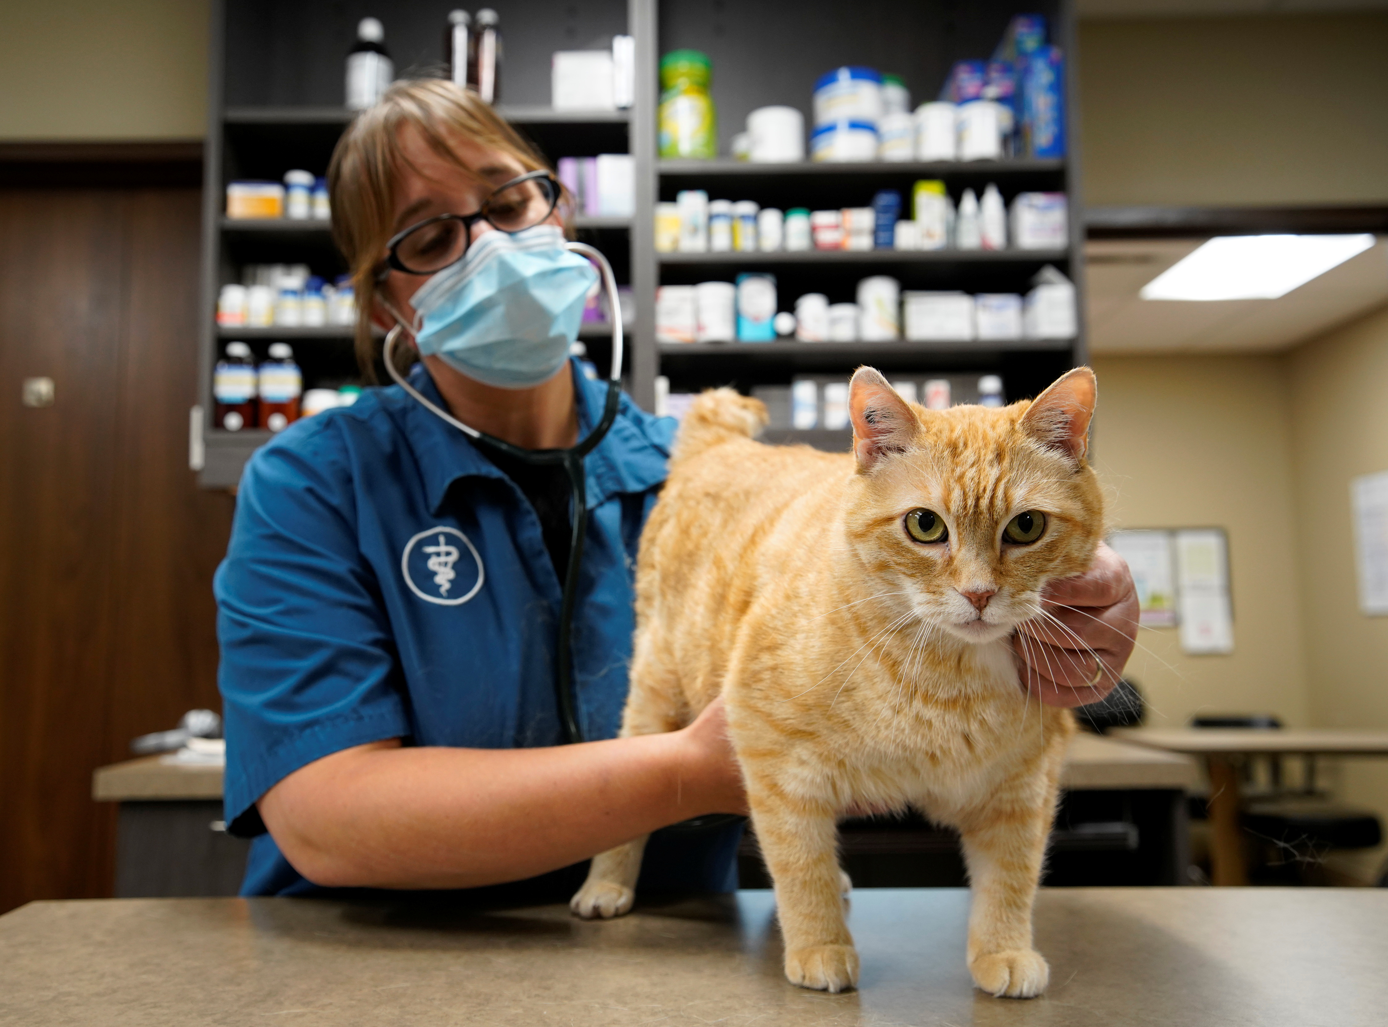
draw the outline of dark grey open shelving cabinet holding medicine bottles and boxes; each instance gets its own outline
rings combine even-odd
[[[661,285],[731,280],[740,271],[777,276],[781,309],[806,291],[831,303],[854,298],[866,275],[891,275],[902,289],[1026,291],[1035,272],[1052,264],[1077,289],[1083,311],[1080,260],[1083,228],[1078,187],[1078,133],[1074,105],[1074,17],[1070,3],[979,0],[496,0],[505,44],[501,112],[551,161],[598,153],[632,153],[636,160],[636,215],[632,219],[577,221],[580,239],[601,248],[618,280],[630,285],[636,304],[623,375],[632,396],[652,408],[655,379],[675,391],[736,384],[786,383],[794,375],[844,375],[870,362],[888,375],[915,377],[998,373],[1009,400],[1033,396],[1065,369],[1085,359],[1083,322],[1072,340],[1013,343],[768,343],[658,344],[655,290]],[[403,0],[389,7],[340,0],[246,0],[214,4],[210,126],[204,187],[201,408],[211,411],[212,368],[228,339],[243,339],[264,357],[269,341],[294,346],[305,384],[337,384],[355,376],[350,329],[218,329],[217,293],[240,279],[247,264],[305,262],[315,273],[343,272],[323,223],[235,222],[223,217],[226,182],[279,179],[289,168],[322,173],[350,112],[341,105],[343,61],[357,21],[375,14],[397,74],[436,71],[450,4]],[[693,47],[713,64],[720,153],[730,151],[748,111],[766,104],[801,108],[812,124],[815,78],[843,64],[866,64],[899,74],[913,103],[934,97],[955,60],[985,57],[1009,18],[1019,11],[1047,17],[1052,40],[1066,51],[1069,151],[1063,160],[1008,160],[951,164],[798,164],[751,165],[731,160],[657,158],[655,114],[659,54]],[[636,103],[627,111],[557,112],[550,96],[550,54],[605,46],[612,35],[636,37]],[[952,194],[995,182],[1010,200],[1026,190],[1066,192],[1069,246],[1056,251],[997,253],[780,253],[657,254],[655,203],[682,189],[704,189],[713,198],[755,200],[762,205],[858,207],[877,189],[909,197],[920,178],[944,179]],[[584,343],[600,368],[609,355],[605,333]],[[240,469],[268,432],[223,432],[207,418],[194,426],[203,448],[200,480],[235,486]],[[780,433],[830,448],[847,448],[847,433]]]

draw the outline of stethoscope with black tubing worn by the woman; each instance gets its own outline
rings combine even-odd
[[[569,484],[573,489],[573,540],[569,545],[569,566],[564,575],[564,600],[559,602],[559,669],[554,679],[554,697],[559,708],[559,726],[564,730],[564,740],[568,742],[580,742],[583,741],[583,729],[579,726],[577,701],[573,694],[572,655],[573,605],[579,590],[579,565],[583,562],[583,537],[589,526],[587,484],[583,476],[583,458],[593,452],[593,450],[597,448],[597,444],[607,436],[608,429],[612,427],[612,422],[616,419],[618,405],[622,400],[622,307],[616,294],[616,278],[612,275],[612,265],[608,264],[607,257],[587,243],[566,241],[565,246],[573,253],[583,254],[598,265],[598,271],[602,276],[602,286],[607,289],[608,308],[611,309],[612,321],[612,373],[608,377],[608,394],[607,402],[602,407],[602,419],[598,421],[597,426],[589,432],[587,437],[580,440],[573,448],[523,450],[519,445],[512,445],[511,443],[490,436],[486,432],[479,432],[471,425],[464,425],[448,411],[439,407],[428,396],[422,394],[418,389],[409,384],[405,376],[396,369],[396,362],[391,359],[391,354],[394,351],[396,341],[400,339],[400,333],[405,330],[403,323],[397,323],[386,334],[383,357],[386,361],[386,371],[396,380],[396,384],[404,389],[428,411],[457,427],[472,441],[484,448],[505,454],[507,457],[515,457],[526,464],[537,466],[559,464],[568,473]]]

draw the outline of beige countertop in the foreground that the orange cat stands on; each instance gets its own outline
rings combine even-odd
[[[564,906],[105,899],[0,917],[0,1023],[1356,1027],[1388,1010],[1388,890],[1055,888],[1051,990],[976,992],[967,892],[862,890],[858,991],[786,983],[769,891]]]

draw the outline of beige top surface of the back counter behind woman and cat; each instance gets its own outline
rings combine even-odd
[[[1195,783],[1195,763],[1181,755],[1078,734],[1070,745],[1062,784],[1066,788],[1185,788]],[[92,774],[99,802],[222,798],[222,767],[165,763],[142,756],[99,767]]]

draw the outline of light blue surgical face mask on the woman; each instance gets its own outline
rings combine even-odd
[[[555,225],[487,232],[411,298],[415,343],[483,384],[530,389],[564,366],[597,282]]]

